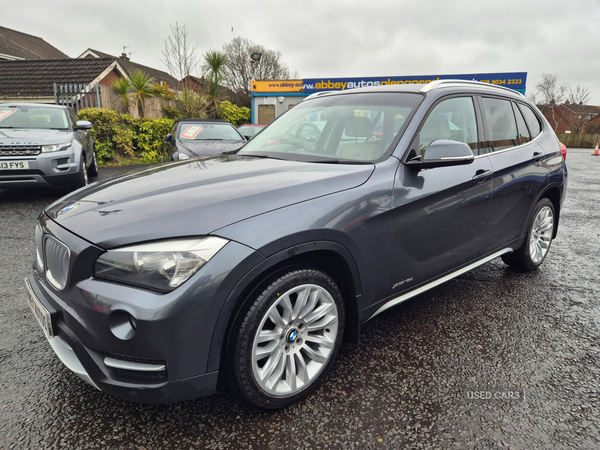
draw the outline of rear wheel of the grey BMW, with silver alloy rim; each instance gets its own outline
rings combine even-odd
[[[554,205],[547,199],[541,199],[531,214],[527,236],[521,248],[513,253],[503,255],[502,260],[509,266],[519,270],[535,270],[544,262],[554,236]]]

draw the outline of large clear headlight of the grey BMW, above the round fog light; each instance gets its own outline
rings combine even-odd
[[[109,250],[96,260],[94,276],[172,291],[198,272],[228,242],[210,236]]]

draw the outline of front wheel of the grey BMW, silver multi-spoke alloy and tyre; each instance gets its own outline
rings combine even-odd
[[[296,266],[259,288],[230,336],[230,384],[264,409],[311,394],[331,369],[342,343],[344,303],[326,273]]]

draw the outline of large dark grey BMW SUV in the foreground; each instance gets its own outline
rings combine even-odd
[[[289,139],[299,124],[318,132]],[[536,269],[565,158],[509,89],[319,93],[239,151],[47,207],[28,300],[59,358],[111,395],[176,402],[228,383],[284,407],[382,311],[494,258]]]

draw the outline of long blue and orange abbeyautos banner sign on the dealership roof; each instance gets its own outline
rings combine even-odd
[[[435,80],[471,80],[495,84],[525,92],[527,72],[473,73],[459,75],[425,75],[405,77],[305,78],[303,80],[252,81],[254,92],[302,92],[309,95],[321,91],[344,91],[371,86],[395,84],[427,84]]]

